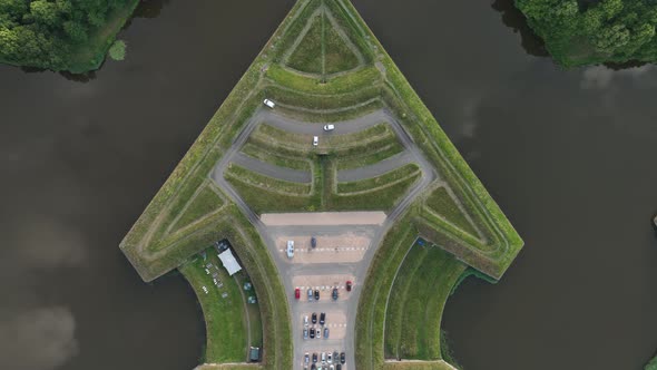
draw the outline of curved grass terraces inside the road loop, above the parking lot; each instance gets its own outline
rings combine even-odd
[[[247,145],[249,152],[257,148],[259,157],[265,157],[265,153],[283,155],[284,157],[269,160],[283,167],[294,166],[286,164],[285,158],[312,160],[312,186],[271,178],[237,166],[232,166],[225,173],[225,178],[254,212],[262,214],[300,210],[389,211],[421,176],[416,165],[408,165],[382,176],[333,185],[335,164],[342,156],[345,156],[345,162],[349,163],[354,160],[359,153],[369,153],[365,160],[372,160],[379,158],[377,149],[385,150],[385,154],[391,152],[390,148],[396,150],[400,144],[386,124],[379,124],[354,134],[323,137],[318,148],[314,148],[311,143],[312,135],[290,133],[263,124],[248,138]],[[317,157],[315,152],[326,155]]]

